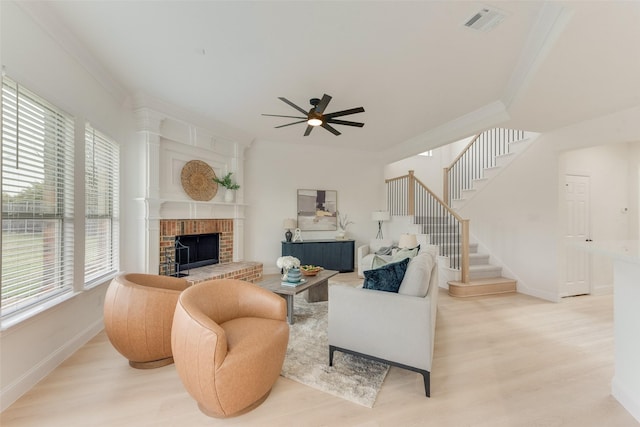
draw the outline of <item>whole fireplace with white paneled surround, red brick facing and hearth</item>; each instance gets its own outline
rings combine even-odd
[[[172,249],[174,261],[178,261],[175,257],[176,236],[219,234],[218,264],[191,268],[189,280],[200,280],[199,275],[203,279],[244,278],[248,273],[241,272],[247,268],[255,270],[252,270],[251,278],[259,277],[262,264],[245,261],[243,252],[243,153],[252,138],[217,123],[212,125],[210,120],[201,120],[184,111],[167,111],[165,104],[148,97],[137,98],[135,102],[139,149],[146,158],[141,162],[146,176],[144,194],[136,198],[140,202],[142,221],[140,228],[135,230],[144,234],[141,239],[144,246],[137,251],[144,271],[163,274],[163,270],[167,270],[165,253],[168,251],[171,255]],[[190,197],[184,189],[182,171],[192,160],[207,163],[216,176],[233,172],[240,185],[235,201],[225,201],[223,191],[218,191],[210,200]],[[199,250],[195,252],[201,254]],[[182,254],[184,252],[180,252],[181,257]]]

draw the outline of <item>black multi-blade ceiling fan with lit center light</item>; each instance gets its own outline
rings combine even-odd
[[[331,132],[332,134],[337,136],[337,135],[340,135],[340,132],[338,132],[338,130],[336,128],[331,126],[332,124],[334,124],[334,125],[355,126],[355,127],[359,127],[359,128],[364,126],[364,123],[351,122],[351,121],[348,121],[348,120],[336,119],[336,117],[342,117],[342,116],[346,116],[346,115],[349,115],[349,114],[363,113],[364,112],[364,108],[362,108],[362,107],[350,108],[348,110],[342,110],[342,111],[336,111],[335,113],[324,114],[324,110],[327,108],[327,105],[329,105],[329,101],[331,101],[331,96],[327,95],[326,93],[322,96],[322,99],[311,98],[309,100],[309,103],[311,104],[312,107],[308,112],[306,110],[304,110],[303,108],[298,107],[296,104],[294,104],[293,102],[289,101],[287,98],[279,97],[278,99],[281,100],[282,102],[284,102],[285,104],[288,104],[291,107],[295,108],[296,110],[300,111],[302,114],[304,114],[304,117],[300,117],[300,116],[281,116],[281,115],[278,115],[278,114],[263,114],[263,116],[270,116],[270,117],[288,117],[290,119],[302,119],[302,120],[297,121],[297,122],[287,123],[286,125],[276,126],[276,129],[277,128],[282,128],[282,127],[285,127],[285,126],[297,125],[298,123],[305,123],[306,122],[307,123],[307,130],[305,130],[304,136],[309,135],[311,133],[311,131],[313,130],[313,128],[316,127],[316,126],[322,126],[326,130],[328,130],[329,132]]]

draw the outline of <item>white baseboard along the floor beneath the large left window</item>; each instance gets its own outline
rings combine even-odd
[[[67,341],[62,347],[52,352],[47,358],[33,366],[20,378],[11,384],[3,384],[2,390],[0,391],[0,412],[7,409],[22,395],[31,390],[33,386],[49,375],[58,365],[64,362],[91,338],[95,337],[103,328],[104,321],[100,318]]]

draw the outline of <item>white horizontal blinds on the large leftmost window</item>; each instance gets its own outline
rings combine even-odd
[[[73,287],[73,118],[2,79],[0,315]]]

